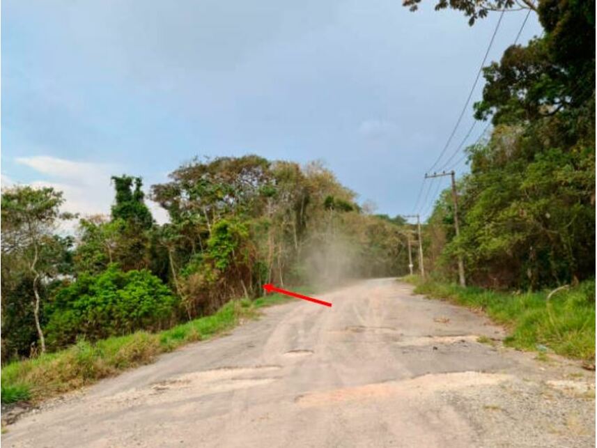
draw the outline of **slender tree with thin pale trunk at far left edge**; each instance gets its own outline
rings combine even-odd
[[[56,272],[56,258],[50,256],[59,242],[53,237],[59,219],[72,215],[61,213],[62,192],[51,187],[13,187],[2,192],[2,252],[22,259],[31,274],[33,316],[40,348],[45,339],[40,324],[40,282]]]

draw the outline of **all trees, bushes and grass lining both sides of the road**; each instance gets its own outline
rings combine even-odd
[[[465,150],[460,233],[444,190],[421,226],[426,272],[437,281],[417,288],[487,311],[511,327],[513,346],[591,360],[594,1],[523,3],[437,3],[470,24],[495,8],[528,8],[544,33],[483,69],[474,116],[491,126]],[[438,169],[456,167],[449,162]],[[140,177],[112,182],[109,216],[75,217],[51,187],[1,193],[3,402],[42,399],[225,331],[275,300],[263,298],[263,284],[331,286],[408,272],[417,229],[374,215],[318,162],[197,157],[149,189],[165,224],[153,219]],[[457,258],[469,288],[452,285]],[[570,288],[547,300],[543,291],[560,286]]]

